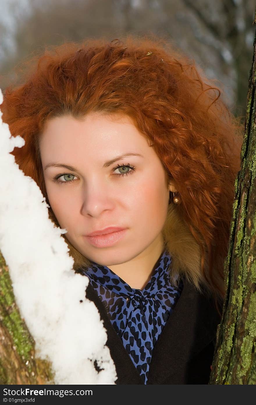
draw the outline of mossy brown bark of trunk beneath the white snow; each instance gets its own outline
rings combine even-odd
[[[15,303],[0,252],[0,384],[54,384],[51,366],[35,358],[35,342]]]

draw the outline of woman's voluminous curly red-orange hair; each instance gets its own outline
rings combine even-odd
[[[180,204],[170,205],[164,228],[167,246],[171,250],[175,245],[168,238],[176,218],[201,251],[199,269],[182,265],[179,254],[173,255],[180,265],[178,276],[185,274],[197,288],[204,284],[215,297],[223,297],[242,131],[220,100],[220,90],[161,38],[87,39],[46,49],[34,61],[25,83],[6,89],[2,105],[12,135],[25,139],[25,146],[13,151],[20,169],[47,200],[38,146],[47,120],[64,114],[83,119],[91,112],[129,115],[179,192]],[[58,226],[51,207],[49,214]],[[66,242],[74,269],[88,265]]]

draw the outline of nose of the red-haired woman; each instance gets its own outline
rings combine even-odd
[[[87,184],[83,190],[83,203],[81,214],[98,217],[103,211],[114,208],[114,193],[110,188],[96,182]]]

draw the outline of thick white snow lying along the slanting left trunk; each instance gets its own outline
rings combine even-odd
[[[24,144],[20,136],[11,136],[0,111],[0,250],[36,357],[52,362],[55,384],[114,384],[106,329],[95,304],[85,298],[88,277],[72,268],[61,237],[67,230],[49,220],[40,188],[10,153]],[[103,369],[99,373],[94,360]]]

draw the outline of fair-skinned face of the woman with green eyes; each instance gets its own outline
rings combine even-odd
[[[132,260],[163,243],[169,190],[174,191],[167,187],[160,159],[131,118],[113,117],[56,117],[40,137],[47,196],[59,225],[83,256],[106,266]],[[107,227],[125,231],[88,238]]]

